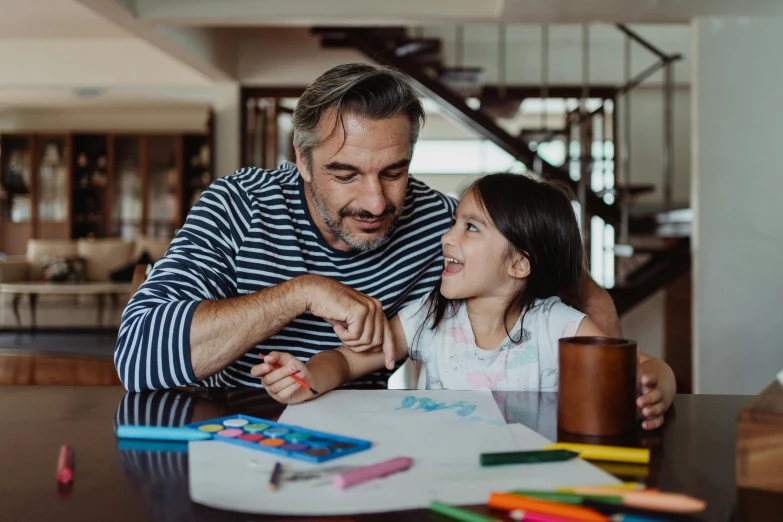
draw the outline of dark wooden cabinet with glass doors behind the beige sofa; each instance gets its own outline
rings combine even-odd
[[[214,179],[205,133],[0,135],[0,252],[27,240],[173,237]]]

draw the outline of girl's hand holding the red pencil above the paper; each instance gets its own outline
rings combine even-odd
[[[291,378],[294,374],[310,384],[312,375],[307,371],[305,363],[289,353],[272,352],[266,355],[263,363],[250,369],[250,374],[261,377],[267,393],[277,402],[296,404],[314,397],[310,390]]]

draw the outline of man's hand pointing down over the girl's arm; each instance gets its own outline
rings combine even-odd
[[[334,279],[301,276],[306,308],[334,328],[340,342],[354,352],[383,350],[394,361],[394,339],[383,305]]]

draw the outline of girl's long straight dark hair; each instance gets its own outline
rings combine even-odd
[[[530,262],[524,288],[511,298],[500,318],[504,327],[509,313],[518,310],[524,316],[537,299],[556,296],[580,308],[583,247],[568,187],[520,174],[490,174],[475,181],[465,197],[469,194],[476,197],[510,247]],[[460,301],[441,295],[439,281],[426,301],[427,320],[422,328],[430,324],[435,330],[459,305]],[[507,327],[506,333],[510,335]]]

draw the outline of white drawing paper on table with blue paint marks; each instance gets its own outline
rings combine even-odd
[[[285,459],[280,486],[267,488],[274,455],[217,441],[190,443],[190,495],[217,509],[274,515],[337,515],[425,508],[432,500],[482,504],[493,491],[613,484],[575,459],[481,467],[487,452],[540,449],[550,441],[521,424],[506,425],[489,392],[331,392],[286,409],[280,422],[373,441],[368,451],[323,464]],[[332,475],[394,457],[406,472],[346,490]]]

